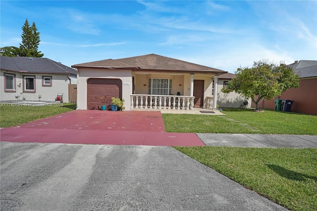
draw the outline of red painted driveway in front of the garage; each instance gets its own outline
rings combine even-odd
[[[0,141],[205,146],[195,133],[166,133],[159,111],[74,110],[2,128]]]

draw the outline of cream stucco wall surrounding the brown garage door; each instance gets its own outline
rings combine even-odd
[[[78,69],[77,78],[77,107],[87,109],[87,80],[89,78],[115,78],[122,81],[122,99],[126,110],[130,110],[132,94],[132,72],[131,70],[100,70],[100,69]],[[105,76],[107,75],[107,76]],[[124,85],[129,83],[129,85]]]

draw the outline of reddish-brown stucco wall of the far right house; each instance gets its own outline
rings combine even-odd
[[[274,99],[264,100],[264,108],[275,109]],[[291,106],[292,112],[317,115],[317,78],[301,79],[299,88],[286,90],[279,99],[294,101]],[[252,103],[252,106],[255,107],[255,104]],[[263,101],[259,107],[263,107]]]

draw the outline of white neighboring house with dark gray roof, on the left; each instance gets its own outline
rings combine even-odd
[[[75,69],[48,58],[0,57],[1,101],[54,102],[63,93],[68,103],[68,85],[77,84]]]

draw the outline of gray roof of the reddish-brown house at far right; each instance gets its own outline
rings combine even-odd
[[[317,60],[300,60],[287,66],[291,67],[300,78],[317,77]]]

